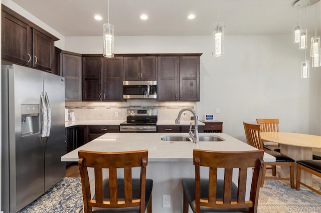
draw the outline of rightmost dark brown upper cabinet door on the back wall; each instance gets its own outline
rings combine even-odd
[[[180,56],[180,100],[200,101],[199,56]]]

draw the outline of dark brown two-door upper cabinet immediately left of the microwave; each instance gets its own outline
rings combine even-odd
[[[83,100],[122,101],[123,57],[83,57]]]

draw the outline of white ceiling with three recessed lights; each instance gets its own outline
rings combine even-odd
[[[108,0],[13,1],[64,36],[99,36],[102,24],[108,22]],[[295,1],[109,0],[109,22],[115,27],[115,35],[210,35],[219,5],[225,34],[289,34],[297,18],[304,24],[304,8],[294,8]],[[321,1],[315,5],[305,8],[304,25],[314,33],[316,19],[320,34]],[[143,12],[149,19],[139,19]],[[93,15],[97,13],[104,19],[95,20]],[[189,13],[196,18],[187,19]]]

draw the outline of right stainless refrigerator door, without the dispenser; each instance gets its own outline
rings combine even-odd
[[[60,157],[66,153],[65,78],[44,72],[44,95],[47,108],[49,106],[51,111],[49,116],[51,125],[48,128],[50,132],[47,132],[49,136],[45,143],[45,191],[47,191],[66,173],[66,163],[60,160]]]

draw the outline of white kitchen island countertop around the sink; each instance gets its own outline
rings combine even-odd
[[[192,161],[193,148],[219,151],[255,150],[253,146],[226,133],[200,133],[217,135],[224,141],[200,141],[199,144],[186,141],[163,141],[163,135],[187,135],[187,133],[105,133],[104,135],[63,155],[61,161],[78,161],[78,150],[129,151],[148,149],[149,161]],[[275,161],[275,157],[264,153],[265,161]]]

